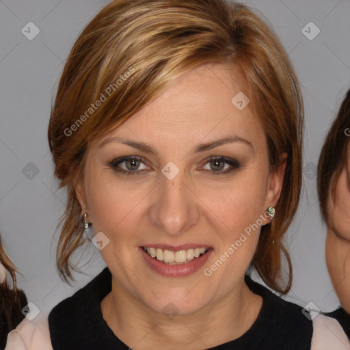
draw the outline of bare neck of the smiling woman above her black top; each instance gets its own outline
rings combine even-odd
[[[252,326],[262,298],[244,280],[224,298],[193,314],[174,317],[150,310],[112,278],[112,291],[101,302],[103,318],[112,332],[137,350],[208,349],[242,336]]]

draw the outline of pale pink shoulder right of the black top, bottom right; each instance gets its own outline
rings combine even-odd
[[[313,317],[312,350],[350,349],[349,339],[336,319],[316,313],[314,313]]]

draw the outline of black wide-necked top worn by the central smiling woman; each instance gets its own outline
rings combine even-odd
[[[252,292],[263,299],[252,327],[243,336],[218,345],[215,350],[310,349],[312,321],[302,308],[245,278]],[[49,314],[53,350],[128,350],[103,319],[100,302],[111,291],[111,273],[106,267],[77,293],[61,301]],[[135,349],[137,350],[137,348]]]

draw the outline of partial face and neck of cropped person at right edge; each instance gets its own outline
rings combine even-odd
[[[342,307],[350,314],[350,146],[348,165],[340,173],[335,200],[327,201],[326,261]]]

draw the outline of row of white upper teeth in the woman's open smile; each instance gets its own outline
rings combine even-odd
[[[183,265],[211,250],[211,248],[205,247],[189,248],[187,250],[178,250],[177,252],[154,247],[142,247],[142,249],[152,258],[162,261],[167,265]]]

